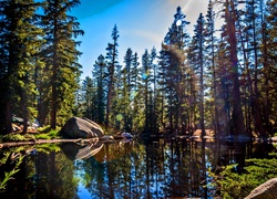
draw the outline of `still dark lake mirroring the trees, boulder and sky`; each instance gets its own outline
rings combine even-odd
[[[214,198],[208,170],[268,157],[270,144],[186,139],[117,140],[4,148],[0,198]],[[19,163],[22,157],[22,163]]]

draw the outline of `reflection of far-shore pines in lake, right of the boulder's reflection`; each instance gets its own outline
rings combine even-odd
[[[76,176],[92,198],[212,198],[207,169],[242,165],[253,147],[176,139],[106,144],[93,158],[75,161]]]

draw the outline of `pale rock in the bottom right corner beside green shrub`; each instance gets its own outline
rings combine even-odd
[[[277,199],[277,178],[269,179],[261,184],[245,199]]]

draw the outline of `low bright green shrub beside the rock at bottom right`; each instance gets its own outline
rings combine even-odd
[[[235,172],[237,165],[230,165],[219,175],[209,171],[214,186],[223,198],[244,198],[253,189],[277,176],[277,153],[270,154],[271,159],[247,159],[243,174]]]

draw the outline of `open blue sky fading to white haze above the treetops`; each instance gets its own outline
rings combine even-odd
[[[191,22],[187,30],[192,33],[199,13],[206,14],[207,3],[208,0],[81,0],[71,12],[85,32],[78,38],[82,41],[79,50],[83,53],[79,60],[83,66],[81,77],[91,76],[98,56],[105,55],[114,24],[120,34],[120,63],[123,64],[127,48],[137,52],[141,62],[145,49],[155,46],[160,51],[178,6]]]

